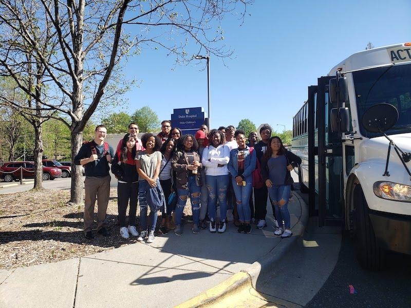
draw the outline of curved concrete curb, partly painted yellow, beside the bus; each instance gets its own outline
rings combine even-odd
[[[242,269],[239,273],[234,274],[229,279],[217,284],[200,295],[177,305],[176,308],[206,307],[216,304],[223,298],[234,295],[234,293],[238,293],[245,287],[253,287],[255,289],[258,278],[263,277],[264,273],[271,273],[293,244],[304,235],[305,227],[308,223],[308,207],[296,192],[293,191],[292,194],[298,202],[300,202],[301,216],[291,229],[293,232],[291,238],[281,239],[281,241],[273,247],[268,254],[260,257],[247,269]]]

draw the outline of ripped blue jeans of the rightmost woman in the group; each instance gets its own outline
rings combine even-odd
[[[288,199],[290,198],[291,186],[290,185],[273,185],[268,187],[268,194],[270,196],[272,205],[275,210],[275,220],[279,227],[284,225],[286,229],[290,229],[290,212],[288,211]],[[279,203],[284,203],[284,205],[279,205]]]

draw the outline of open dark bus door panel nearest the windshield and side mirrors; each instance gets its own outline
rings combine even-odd
[[[317,126],[319,226],[341,225],[344,215],[344,174],[341,135],[331,131],[328,97],[330,76],[318,79],[315,121]]]

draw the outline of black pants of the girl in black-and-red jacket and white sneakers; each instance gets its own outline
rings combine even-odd
[[[128,210],[128,225],[136,226],[137,213],[137,196],[138,196],[138,182],[137,183],[118,183],[117,185],[117,206],[118,206],[118,220],[120,227],[126,227],[125,216],[127,214],[128,200],[130,201],[130,209]]]

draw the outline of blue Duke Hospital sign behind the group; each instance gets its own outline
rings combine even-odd
[[[183,134],[195,134],[204,124],[204,110],[202,107],[174,109],[171,124],[180,128]]]

